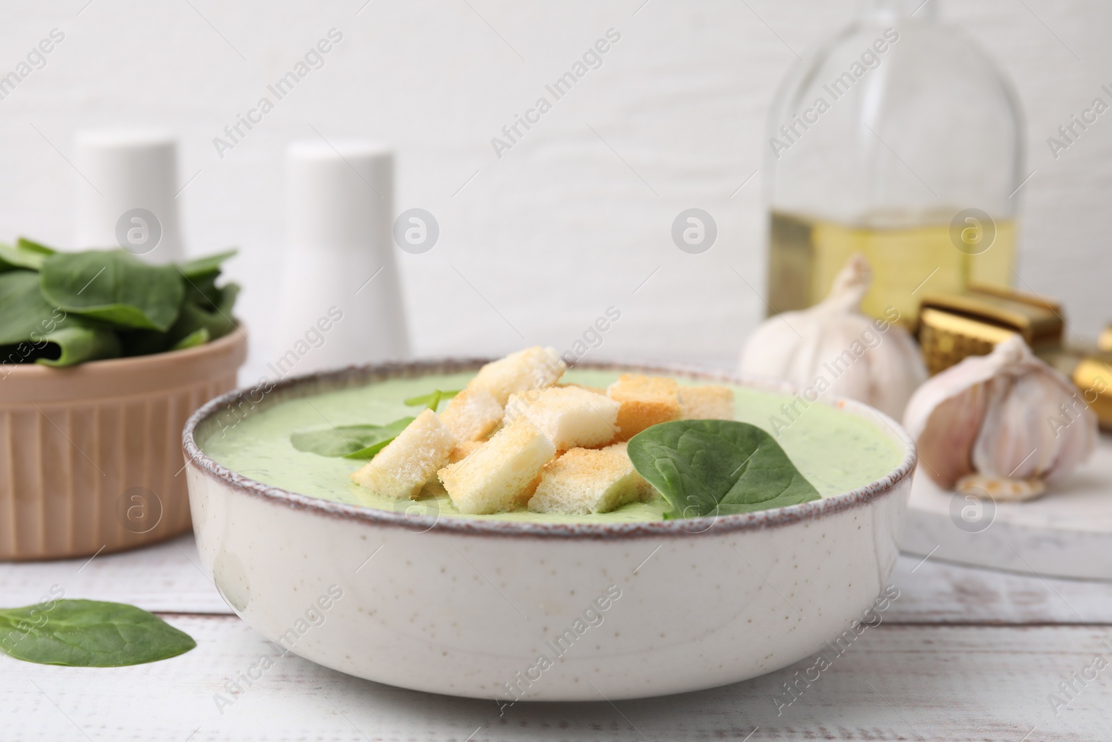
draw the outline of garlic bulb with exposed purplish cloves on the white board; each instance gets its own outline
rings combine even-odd
[[[1089,457],[1098,436],[1076,387],[1019,335],[926,382],[904,427],[940,486],[1001,501],[1042,494]]]

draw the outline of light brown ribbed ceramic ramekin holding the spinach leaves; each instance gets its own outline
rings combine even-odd
[[[116,552],[188,531],[181,426],[235,388],[237,330],[71,368],[0,365],[0,560]]]

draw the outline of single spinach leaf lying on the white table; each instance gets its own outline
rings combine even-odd
[[[61,600],[0,610],[0,650],[27,662],[120,667],[195,646],[189,634],[123,603]]]

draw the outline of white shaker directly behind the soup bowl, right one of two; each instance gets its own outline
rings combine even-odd
[[[296,141],[286,155],[286,264],[274,377],[409,355],[394,256],[394,152]]]

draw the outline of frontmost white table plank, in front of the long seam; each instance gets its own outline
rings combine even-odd
[[[0,657],[4,740],[1100,740],[1112,729],[1101,675],[1055,716],[1048,695],[1112,632],[1090,626],[887,626],[866,631],[790,705],[794,667],[682,695],[608,703],[435,696],[296,656],[242,693],[226,680],[275,650],[237,619],[169,615],[196,650],[122,669]],[[1112,670],[1105,670],[1112,673]],[[215,695],[232,701],[221,710]],[[780,702],[775,699],[780,698]],[[780,712],[780,713],[777,713]],[[1032,731],[1033,730],[1033,731]],[[751,735],[752,734],[752,735]]]

